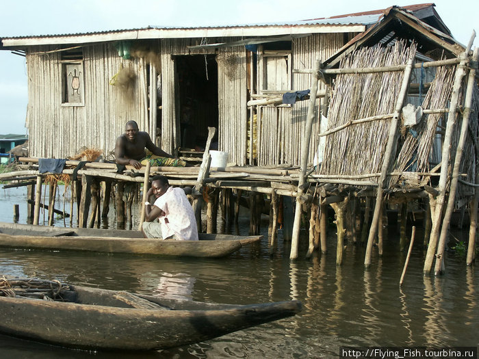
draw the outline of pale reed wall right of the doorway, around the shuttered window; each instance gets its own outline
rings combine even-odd
[[[344,45],[344,34],[313,34],[292,42],[292,68],[310,69],[315,60],[324,61]],[[311,88],[312,75],[295,73],[293,91]],[[320,82],[318,90],[324,90]],[[313,123],[309,162],[318,149],[319,104],[316,101],[318,120]],[[298,101],[291,107],[259,107],[258,121],[258,165],[276,165],[289,163],[299,165],[301,159],[301,141],[305,135],[309,101]]]

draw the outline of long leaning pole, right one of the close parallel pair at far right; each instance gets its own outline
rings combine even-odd
[[[467,79],[467,89],[465,94],[465,103],[463,111],[463,122],[461,124],[461,135],[459,136],[459,142],[456,148],[456,156],[454,157],[454,168],[452,170],[452,178],[450,184],[448,204],[445,209],[443,224],[441,228],[441,235],[439,237],[439,243],[437,245],[435,274],[440,274],[443,268],[444,250],[446,237],[448,235],[448,227],[451,220],[452,212],[454,211],[454,201],[456,200],[456,191],[459,170],[461,167],[461,160],[463,159],[463,150],[467,139],[467,129],[469,127],[469,118],[471,116],[471,104],[474,88],[476,87],[476,70],[478,68],[479,49],[474,49],[474,55],[471,62],[471,70],[469,70],[469,78]],[[477,114],[475,115],[477,118]]]

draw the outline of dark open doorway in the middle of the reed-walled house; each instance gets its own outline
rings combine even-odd
[[[177,56],[175,61],[178,74],[177,109],[180,147],[182,150],[189,148],[203,150],[208,127],[216,127],[218,130],[216,57],[215,55],[182,55]],[[218,148],[216,138],[211,142],[211,149]]]

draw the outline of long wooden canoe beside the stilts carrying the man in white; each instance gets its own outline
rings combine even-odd
[[[60,228],[0,222],[0,247],[222,257],[261,236],[198,234],[200,241],[146,239],[138,230]]]

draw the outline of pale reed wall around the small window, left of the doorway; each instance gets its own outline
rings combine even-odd
[[[44,46],[39,51],[53,50]],[[84,106],[62,106],[60,53],[27,53],[27,126],[31,157],[65,158],[83,146],[114,150],[125,122],[135,120],[148,131],[146,66],[142,59],[122,59],[112,45],[83,48]],[[135,72],[133,98],[122,96],[109,80],[120,65]]]

